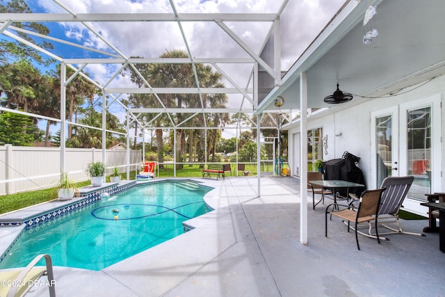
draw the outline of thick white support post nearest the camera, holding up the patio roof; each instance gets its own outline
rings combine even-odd
[[[300,242],[307,244],[307,75],[300,73]]]

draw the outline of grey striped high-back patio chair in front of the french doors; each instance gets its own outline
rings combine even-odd
[[[400,211],[403,200],[405,200],[413,181],[414,177],[411,175],[406,177],[386,177],[383,179],[382,188],[386,187],[387,191],[382,195],[381,205],[378,210],[378,221],[379,225],[391,231],[385,233],[380,232],[380,235],[400,233],[425,236],[425,234],[421,233],[403,231],[398,221],[398,211]],[[351,196],[353,197],[353,195]],[[390,223],[394,223],[396,226],[390,227],[388,225]],[[368,236],[375,237],[376,234],[371,234],[370,230]],[[380,239],[385,239],[385,237],[380,237]]]

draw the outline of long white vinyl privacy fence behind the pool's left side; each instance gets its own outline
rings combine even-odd
[[[142,152],[130,150],[130,171],[142,160]],[[88,179],[85,168],[90,161],[102,161],[99,149],[65,149],[65,168],[75,182]],[[106,150],[105,164],[127,171],[127,151]],[[17,147],[0,145],[0,195],[51,188],[60,178],[60,147]]]

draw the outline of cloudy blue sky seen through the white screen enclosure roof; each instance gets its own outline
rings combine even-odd
[[[346,0],[52,0],[29,1],[34,13],[278,13],[280,15],[282,40],[282,71],[298,59],[300,54],[316,38],[327,22],[337,13]],[[64,8],[64,7],[66,8]],[[271,22],[225,22],[238,38],[259,54]],[[104,37],[100,40],[95,33],[81,23],[47,23],[50,35],[80,45],[101,49],[129,58],[140,56],[157,58],[166,50],[186,50],[186,43],[177,22],[90,22],[94,31]],[[191,54],[195,58],[248,58],[249,55],[213,22],[182,22],[182,29]],[[63,58],[104,58],[93,51],[67,47],[52,42],[54,54]],[[111,45],[111,46],[110,46]],[[113,47],[115,49],[113,49]],[[105,83],[119,65],[88,65],[86,71],[92,79]],[[234,79],[242,88],[248,86],[252,64],[221,64],[221,70]],[[128,77],[118,75],[111,87],[127,86]],[[227,87],[231,83],[225,81]],[[250,87],[252,87],[250,85]],[[229,97],[229,107],[239,107],[241,95]],[[247,108],[249,106],[243,106]],[[118,112],[118,111],[115,111]]]

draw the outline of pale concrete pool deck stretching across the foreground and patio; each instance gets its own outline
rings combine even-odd
[[[56,266],[57,296],[444,296],[445,253],[439,235],[359,236],[308,204],[308,244],[300,239],[299,179],[196,179],[215,187],[215,208],[195,227],[102,271]],[[309,200],[309,199],[308,199]],[[312,200],[312,199],[311,199]],[[309,202],[309,201],[308,201]],[[428,220],[402,220],[421,232]],[[131,243],[129,243],[131,244]],[[48,296],[35,287],[27,296]]]

